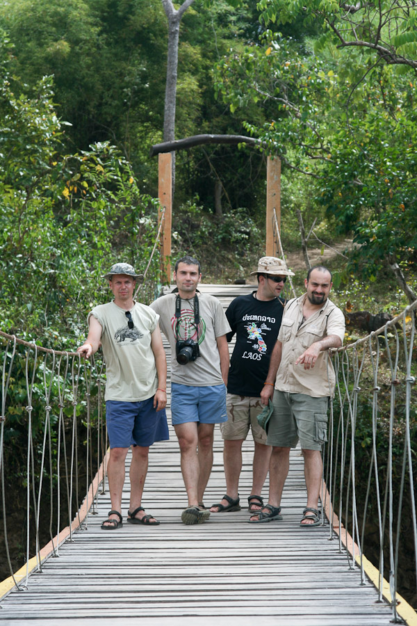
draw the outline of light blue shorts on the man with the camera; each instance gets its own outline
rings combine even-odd
[[[171,383],[172,426],[186,422],[227,422],[226,385],[192,387]]]

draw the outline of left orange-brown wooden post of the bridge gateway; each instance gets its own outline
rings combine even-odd
[[[170,152],[158,154],[158,225],[161,222],[162,210],[163,225],[160,239],[161,249],[161,280],[171,283],[171,227],[172,227],[172,155]]]

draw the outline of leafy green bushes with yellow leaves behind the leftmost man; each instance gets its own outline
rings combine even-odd
[[[157,202],[140,193],[129,163],[109,143],[63,154],[51,80],[24,93],[8,74],[9,50],[6,40],[0,51],[1,329],[39,336],[53,326],[79,335],[80,315],[106,298],[100,277],[115,253],[137,268],[149,259]],[[155,257],[149,275],[156,281],[157,264]],[[45,339],[56,345],[56,337]]]

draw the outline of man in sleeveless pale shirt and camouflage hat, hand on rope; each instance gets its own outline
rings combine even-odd
[[[159,522],[142,508],[142,492],[147,474],[149,446],[169,439],[165,406],[167,403],[167,364],[158,315],[133,300],[136,280],[143,278],[128,263],[116,263],[103,278],[114,300],[95,307],[88,314],[89,332],[78,352],[90,358],[103,348],[106,359],[106,425],[110,442],[108,485],[111,511],[101,524],[103,530],[123,525],[121,513],[124,461],[132,450],[130,467],[131,524]]]

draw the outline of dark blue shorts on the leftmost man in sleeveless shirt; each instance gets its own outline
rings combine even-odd
[[[106,425],[111,448],[146,448],[170,438],[165,409],[156,412],[153,396],[139,402],[107,400]]]

